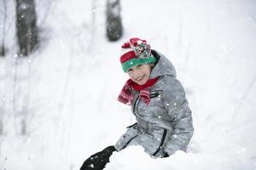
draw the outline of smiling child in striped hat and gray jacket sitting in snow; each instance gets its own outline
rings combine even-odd
[[[122,48],[126,51],[120,62],[130,79],[118,100],[131,105],[137,122],[127,127],[116,144],[84,161],[81,170],[104,168],[113,151],[132,144],[142,145],[156,158],[171,156],[185,151],[194,133],[188,101],[172,63],[140,38],[131,38]]]

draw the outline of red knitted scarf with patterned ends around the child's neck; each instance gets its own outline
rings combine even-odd
[[[157,82],[157,80],[158,78],[149,79],[148,82],[146,82],[145,84],[139,85],[136,82],[133,82],[131,79],[129,79],[127,82],[125,82],[125,85],[119,94],[119,97],[118,97],[119,102],[125,105],[131,105],[131,102],[133,100],[131,90],[135,89],[140,93],[139,96],[143,100],[143,102],[149,105],[150,103],[149,88],[153,86],[154,83]]]

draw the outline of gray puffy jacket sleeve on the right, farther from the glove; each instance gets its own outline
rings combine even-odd
[[[194,127],[184,89],[176,78],[166,79],[162,99],[172,118],[172,137],[164,146],[166,153],[171,156],[177,150],[187,149]]]

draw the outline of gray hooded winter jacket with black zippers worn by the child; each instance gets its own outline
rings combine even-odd
[[[187,149],[194,127],[184,89],[176,79],[172,63],[154,50],[153,54],[159,60],[150,78],[159,79],[150,88],[150,104],[146,105],[137,91],[132,92],[131,111],[137,123],[127,127],[114,147],[119,151],[139,144],[150,156],[162,157],[165,153],[171,156],[177,150]]]

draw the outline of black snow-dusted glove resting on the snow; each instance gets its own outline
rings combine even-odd
[[[84,161],[80,170],[102,170],[109,162],[109,157],[116,151],[113,146],[97,152]]]

